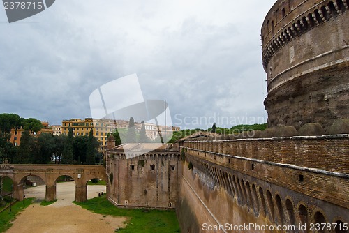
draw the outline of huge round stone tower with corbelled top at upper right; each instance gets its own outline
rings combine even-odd
[[[349,118],[349,0],[278,0],[262,25],[268,126]]]

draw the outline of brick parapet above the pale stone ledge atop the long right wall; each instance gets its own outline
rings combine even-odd
[[[185,142],[185,147],[273,163],[349,173],[349,135]],[[225,157],[224,157],[225,158]]]

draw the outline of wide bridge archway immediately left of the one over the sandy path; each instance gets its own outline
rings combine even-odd
[[[36,202],[41,202],[45,200],[46,186],[45,181],[39,176],[30,175],[24,176],[18,186],[23,186],[23,197],[31,198],[33,197]]]

